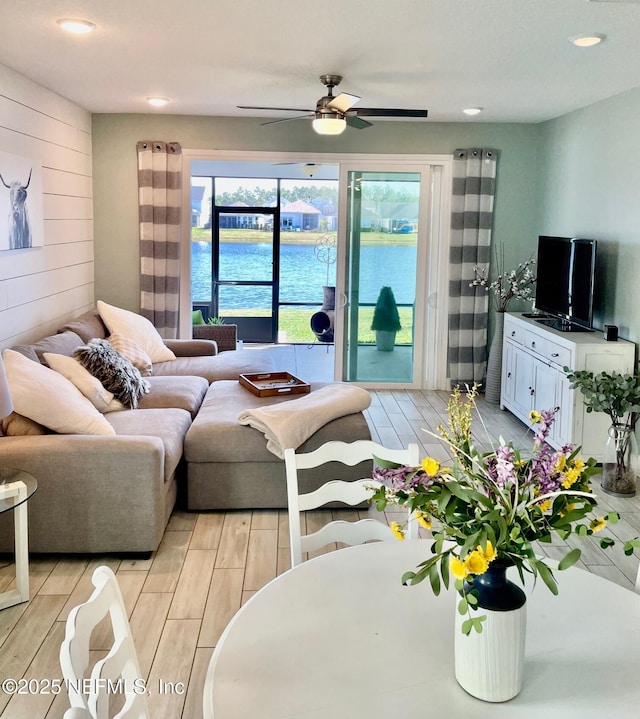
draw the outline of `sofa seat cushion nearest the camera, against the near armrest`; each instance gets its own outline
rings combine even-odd
[[[158,437],[164,447],[164,481],[172,477],[182,458],[191,415],[184,409],[136,409],[106,415],[118,435]],[[135,477],[132,477],[135,481]]]

